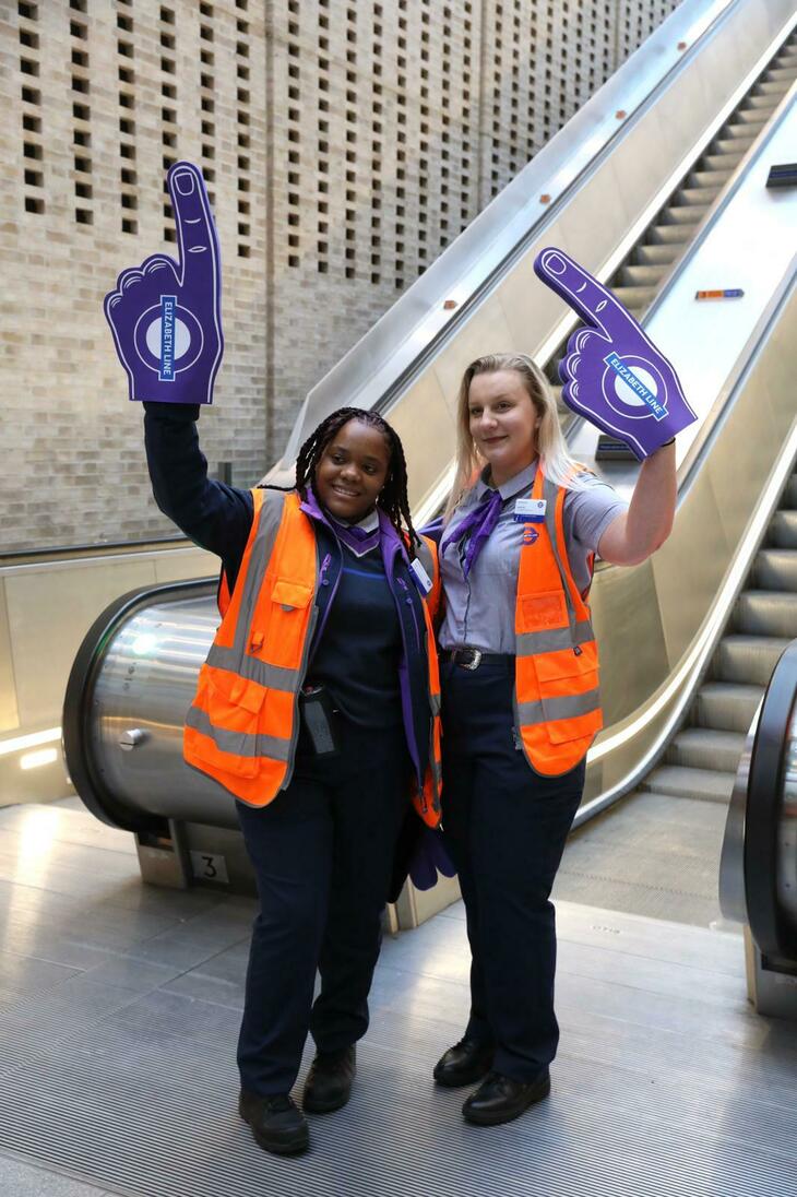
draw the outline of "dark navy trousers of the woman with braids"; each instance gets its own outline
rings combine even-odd
[[[288,788],[267,807],[237,803],[260,898],[238,1040],[249,1092],[291,1089],[308,1031],[323,1052],[365,1034],[408,783],[403,728],[342,722],[337,755],[302,737]]]

